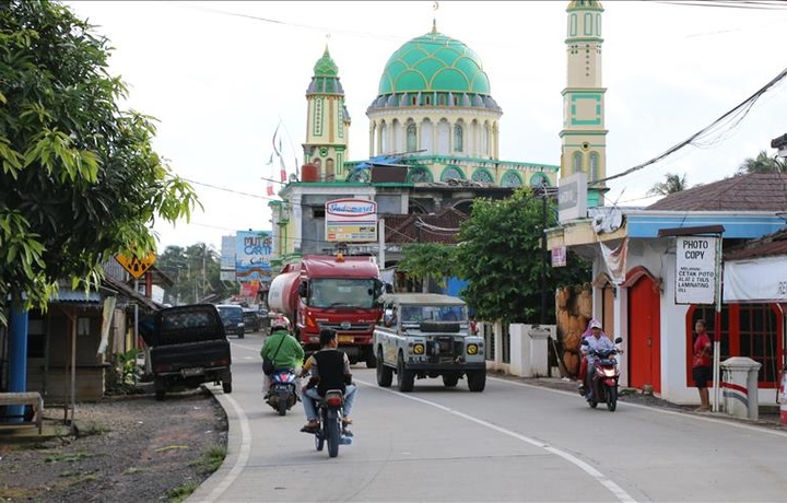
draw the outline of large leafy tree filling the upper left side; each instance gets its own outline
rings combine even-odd
[[[0,307],[45,309],[60,279],[94,288],[115,254],[155,250],[155,219],[199,206],[153,151],[153,118],[118,107],[92,28],[48,0],[0,7]]]

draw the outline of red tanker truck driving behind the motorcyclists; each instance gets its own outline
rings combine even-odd
[[[383,313],[379,297],[385,291],[373,257],[304,255],[273,278],[268,307],[290,318],[307,354],[319,349],[319,331],[331,328],[350,363],[365,361],[374,369],[372,332]]]

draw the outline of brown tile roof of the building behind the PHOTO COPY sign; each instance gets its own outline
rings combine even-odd
[[[787,211],[787,173],[738,175],[670,194],[646,210]]]

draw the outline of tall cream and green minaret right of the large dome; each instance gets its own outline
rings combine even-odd
[[[603,204],[609,190],[595,180],[607,177],[607,129],[601,85],[601,2],[568,3],[566,33],[567,79],[563,90],[561,178],[587,173],[588,207]]]

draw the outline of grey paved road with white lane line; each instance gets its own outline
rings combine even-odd
[[[227,458],[189,502],[787,501],[787,434],[490,377],[401,394],[355,365],[353,445],[317,452],[261,399],[262,336],[233,339]],[[396,385],[396,377],[395,377]]]

